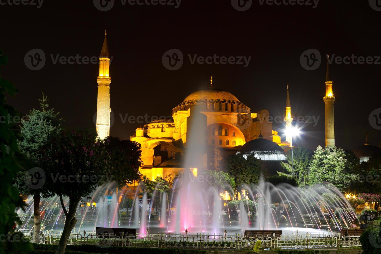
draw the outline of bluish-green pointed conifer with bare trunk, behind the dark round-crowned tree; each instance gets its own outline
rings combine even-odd
[[[21,152],[30,160],[29,168],[39,167],[40,151],[42,147],[47,145],[51,139],[60,131],[61,119],[58,119],[59,113],[54,113],[54,109],[48,109],[49,104],[47,97],[42,93],[40,101],[41,110],[32,109],[27,115],[28,120],[21,121],[22,140],[19,142]],[[30,171],[20,171],[15,185],[23,195],[33,195],[34,207],[34,233],[33,242],[40,243],[40,199],[42,189],[30,188],[31,185],[26,184],[25,179]],[[43,192],[44,197],[48,197],[48,192]]]

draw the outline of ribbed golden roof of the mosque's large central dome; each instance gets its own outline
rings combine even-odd
[[[191,102],[191,101],[199,101],[199,100],[213,100],[213,101],[231,101],[231,102],[237,102],[240,103],[240,101],[235,97],[233,94],[217,89],[217,88],[209,88],[204,89],[200,91],[195,91],[191,94],[189,94],[182,103]]]

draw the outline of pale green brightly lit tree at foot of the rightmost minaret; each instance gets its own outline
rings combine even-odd
[[[347,153],[338,147],[325,147],[320,145],[312,155],[309,170],[308,184],[328,183],[343,192],[352,181],[358,179],[353,167],[356,162],[347,158]]]

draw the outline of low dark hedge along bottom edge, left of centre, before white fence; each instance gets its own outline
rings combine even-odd
[[[35,249],[32,253],[50,254],[54,253],[57,249],[57,245],[53,244],[33,244]],[[159,248],[146,248],[146,247],[122,247],[122,246],[110,246],[109,248],[101,248],[97,245],[81,244],[81,245],[67,245],[66,254],[85,254],[85,253],[117,253],[117,254],[205,254],[206,250],[200,249],[159,249]]]

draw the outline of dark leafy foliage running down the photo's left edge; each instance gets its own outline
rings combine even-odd
[[[8,58],[0,50],[0,65],[5,65]],[[22,169],[23,157],[19,151],[18,138],[20,138],[13,121],[20,113],[6,104],[6,95],[14,96],[16,88],[14,85],[0,77],[0,235],[6,236],[0,241],[0,253],[27,253],[32,251],[29,243],[16,241],[21,239],[22,234],[14,232],[15,224],[21,225],[17,216],[16,208],[24,208],[25,203],[19,196],[19,192],[12,185],[16,173]],[[8,118],[11,117],[11,118]],[[15,239],[10,241],[10,239]]]

